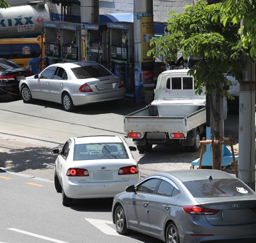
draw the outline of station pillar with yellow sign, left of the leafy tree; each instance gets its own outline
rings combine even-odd
[[[134,0],[134,70],[135,87],[153,87],[153,57],[146,56],[154,35],[153,0]]]

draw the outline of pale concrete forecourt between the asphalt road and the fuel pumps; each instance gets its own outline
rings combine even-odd
[[[145,106],[132,101],[106,102],[63,111],[62,105],[45,101],[24,104],[11,97],[0,97],[0,167],[53,180],[54,159],[50,150],[61,148],[71,136],[121,135],[123,116]],[[231,111],[225,133],[238,142],[238,112]],[[133,145],[132,139],[126,139]],[[237,152],[237,146],[236,146]],[[156,171],[189,169],[199,152],[187,152],[180,145],[154,146],[152,152],[133,152],[142,176]]]

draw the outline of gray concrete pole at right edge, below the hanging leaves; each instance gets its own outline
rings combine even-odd
[[[238,177],[255,190],[255,63],[248,59],[239,94]]]

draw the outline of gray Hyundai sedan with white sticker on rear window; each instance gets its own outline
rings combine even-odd
[[[112,220],[169,243],[256,242],[256,194],[221,170],[155,173],[114,197]]]

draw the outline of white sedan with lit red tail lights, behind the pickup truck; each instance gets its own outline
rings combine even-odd
[[[55,162],[54,184],[62,203],[72,198],[111,198],[141,179],[138,163],[121,136],[70,138]]]

